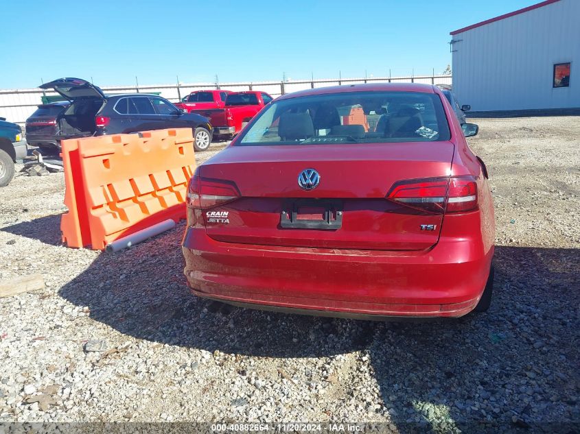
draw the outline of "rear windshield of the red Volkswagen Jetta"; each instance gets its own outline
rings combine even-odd
[[[378,91],[274,101],[242,134],[240,145],[427,142],[451,136],[439,95]]]

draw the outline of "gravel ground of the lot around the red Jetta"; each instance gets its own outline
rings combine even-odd
[[[15,178],[0,190],[0,280],[38,272],[47,287],[0,299],[0,422],[577,432],[580,117],[472,121],[496,204],[495,298],[445,322],[216,313],[184,285],[183,224],[113,256],[69,249],[62,174]],[[104,351],[87,351],[95,340]]]

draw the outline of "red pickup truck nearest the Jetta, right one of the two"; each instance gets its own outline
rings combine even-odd
[[[213,126],[213,136],[230,138],[239,133],[270,101],[272,97],[265,92],[234,92],[227,96],[224,108],[208,110],[194,108],[191,111],[209,117]]]

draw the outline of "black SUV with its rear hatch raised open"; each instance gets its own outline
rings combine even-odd
[[[211,143],[207,117],[184,113],[167,99],[146,93],[105,95],[97,86],[78,78],[60,78],[41,86],[54,89],[70,106],[56,117],[56,141],[164,128],[192,128],[196,151]]]

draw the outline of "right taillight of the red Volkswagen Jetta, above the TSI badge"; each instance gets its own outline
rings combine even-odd
[[[399,181],[386,197],[428,213],[458,213],[477,208],[477,183],[472,176]]]

